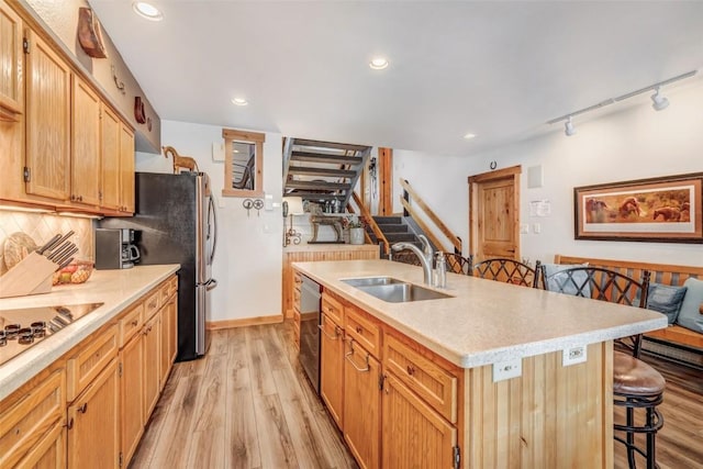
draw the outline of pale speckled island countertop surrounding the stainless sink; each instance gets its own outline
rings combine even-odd
[[[655,311],[458,273],[447,273],[446,289],[434,289],[455,298],[405,303],[381,301],[341,281],[389,276],[422,286],[422,268],[390,260],[293,268],[462,368],[667,327],[667,317]]]

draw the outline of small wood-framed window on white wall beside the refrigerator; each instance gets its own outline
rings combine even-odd
[[[258,132],[223,129],[224,189],[223,197],[264,197],[264,142]]]

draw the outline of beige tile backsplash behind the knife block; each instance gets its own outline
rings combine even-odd
[[[70,237],[70,241],[78,247],[76,259],[94,260],[94,224],[93,220],[76,216],[0,210],[0,275],[8,270],[4,264],[5,238],[16,232],[27,234],[37,246],[41,246],[55,234],[66,234],[72,230],[76,234]]]

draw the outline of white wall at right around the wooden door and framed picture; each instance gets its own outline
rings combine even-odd
[[[667,90],[671,105],[655,112],[646,98],[635,105],[613,104],[614,113],[576,120],[577,134],[556,124],[547,135],[465,158],[394,150],[394,187],[408,179],[447,225],[465,241],[468,253],[467,177],[522,165],[521,219],[531,232],[521,238],[522,256],[549,261],[557,253],[681,265],[703,265],[703,245],[621,243],[573,239],[574,187],[703,171],[703,83]],[[588,120],[590,119],[590,120]],[[480,136],[478,137],[480,138]],[[543,167],[544,186],[527,189],[527,168]],[[395,196],[395,199],[398,196]],[[551,215],[531,217],[529,202],[549,200]],[[394,210],[400,204],[394,202]],[[535,234],[533,224],[542,233]]]

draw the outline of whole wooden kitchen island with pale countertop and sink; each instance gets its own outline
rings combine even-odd
[[[454,273],[442,290],[451,298],[402,303],[342,281],[382,276],[422,284],[421,268],[387,260],[293,268],[324,289],[321,392],[328,406],[336,401],[324,386],[333,369],[325,367],[325,337],[344,337],[343,411],[332,413],[341,414],[352,453],[371,467],[610,468],[613,339],[667,326],[647,310]],[[336,328],[326,328],[325,304],[346,313]],[[565,350],[580,357],[565,361]],[[380,382],[380,395],[358,391],[346,364],[354,356],[361,357],[354,368],[379,373],[369,382]],[[378,400],[378,422],[365,428],[371,436],[360,437],[367,442],[355,436],[365,433],[354,409],[375,406],[359,395]]]

